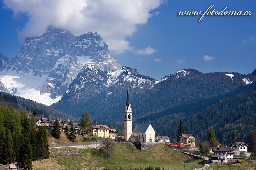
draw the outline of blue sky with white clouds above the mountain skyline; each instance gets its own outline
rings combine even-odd
[[[140,1],[136,5],[131,1],[124,6],[104,0],[97,5],[83,0],[74,5],[61,4],[61,0],[45,4],[21,1],[15,4],[14,0],[4,0],[0,4],[0,53],[8,58],[19,53],[26,36],[40,36],[52,24],[75,35],[98,32],[122,66],[134,67],[155,79],[183,68],[242,74],[256,68],[255,0],[154,0],[152,4]],[[180,11],[204,12],[210,5],[214,5],[211,11],[227,7],[226,11],[251,11],[252,15],[204,16],[200,22],[201,15],[178,16]],[[65,15],[67,7],[73,10],[69,15]],[[90,12],[87,7],[91,7]],[[56,10],[63,12],[51,17],[50,11]],[[70,26],[74,25],[72,17],[79,18],[75,27]]]

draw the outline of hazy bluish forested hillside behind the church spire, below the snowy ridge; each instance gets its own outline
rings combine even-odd
[[[246,86],[242,80],[246,75],[238,73],[215,72],[203,74],[202,72],[185,69],[189,74],[172,74],[151,88],[130,88],[130,100],[133,110],[133,120],[142,118],[150,114],[168,113],[169,109],[183,109],[185,105],[193,105],[198,101],[218,100],[219,96],[236,90],[238,87]],[[226,74],[233,74],[231,78]],[[252,76],[253,78],[255,76]],[[133,86],[136,82],[127,81],[126,84]],[[74,85],[75,86],[75,85]],[[87,85],[88,88],[89,84]],[[124,103],[126,100],[127,86],[110,86],[106,90],[95,94],[91,90],[90,97],[79,102],[72,102],[72,98],[63,99],[53,104],[54,109],[66,112],[79,118],[85,110],[89,111],[91,118],[109,120],[111,122],[123,122]],[[83,92],[83,91],[82,91]],[[76,94],[76,96],[83,95]],[[220,98],[222,99],[222,98]],[[74,100],[73,100],[74,101]],[[203,109],[214,102],[204,102]],[[197,110],[199,111],[199,110]],[[191,112],[194,114],[195,111]]]

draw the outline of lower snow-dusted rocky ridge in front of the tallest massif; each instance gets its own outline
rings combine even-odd
[[[109,88],[124,87],[150,88],[157,83],[157,80],[139,74],[135,68],[121,67],[116,71],[101,71],[95,65],[86,65],[79,72],[78,76],[69,89],[65,92],[62,100],[87,100],[103,91],[110,91]]]

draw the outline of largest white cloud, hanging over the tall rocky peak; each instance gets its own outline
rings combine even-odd
[[[75,35],[87,31],[98,32],[109,42],[109,49],[117,53],[129,50],[125,37],[146,24],[154,16],[153,9],[166,0],[3,0],[4,8],[15,15],[26,13],[28,22],[18,30],[21,39],[40,36],[49,25],[66,29]],[[157,15],[158,12],[155,12]],[[117,48],[117,42],[121,42]],[[143,53],[143,52],[142,52]]]

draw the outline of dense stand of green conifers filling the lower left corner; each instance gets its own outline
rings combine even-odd
[[[36,128],[34,117],[0,105],[0,162],[18,162],[23,169],[33,169],[32,162],[49,158],[48,130]]]

